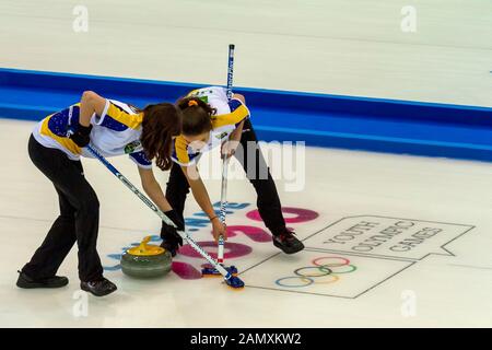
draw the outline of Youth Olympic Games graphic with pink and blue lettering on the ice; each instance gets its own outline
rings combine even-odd
[[[324,296],[354,299],[429,255],[453,256],[445,246],[473,229],[464,224],[378,215],[348,217],[323,226],[323,217],[314,210],[282,208],[292,229],[305,230],[309,226],[303,225],[306,222],[321,228],[302,240],[306,248],[301,254],[288,256],[273,247],[258,211],[248,210],[250,206],[229,205],[227,215],[233,214],[231,218],[239,218],[238,222],[249,224],[227,226],[230,240],[224,254],[226,261],[234,260],[231,264],[238,267],[246,287]],[[219,209],[220,203],[214,207]],[[195,213],[186,219],[186,224],[194,236],[202,237],[197,243],[216,258],[212,234],[204,232],[210,230],[207,215]],[[157,244],[161,241],[159,236],[152,240]],[[119,262],[121,254],[108,257]],[[206,264],[190,246],[185,245],[173,260],[173,271],[184,280],[198,280],[202,278],[200,271]],[[106,270],[119,268],[117,264],[106,267]]]

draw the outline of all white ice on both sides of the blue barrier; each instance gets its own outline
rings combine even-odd
[[[235,43],[241,86],[492,106],[490,1],[414,0],[413,34],[400,30],[400,0],[83,2],[87,33],[72,31],[80,1],[2,1],[0,67],[223,84]],[[200,279],[204,261],[188,249],[163,279],[124,276],[122,248],[157,234],[160,221],[94,160],[83,165],[101,201],[98,252],[118,291],[80,292],[74,249],[59,270],[67,288],[17,289],[16,270],[58,214],[27,156],[33,127],[0,119],[0,326],[492,326],[491,164],[317,148],[306,149],[302,191],[277,182],[301,254],[279,254],[255,220],[253,187],[230,180],[227,261],[242,272],[241,292]],[[110,161],[139,184],[132,162]],[[157,176],[165,186],[167,174]],[[220,179],[206,183],[218,201]],[[186,218],[207,246],[191,196]],[[399,234],[376,242],[382,232]],[[335,277],[296,287],[306,279],[294,271],[313,261]]]

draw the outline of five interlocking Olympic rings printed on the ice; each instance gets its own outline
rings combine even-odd
[[[313,266],[294,270],[295,276],[279,278],[277,285],[285,288],[304,288],[311,284],[330,284],[337,282],[339,275],[354,272],[356,266],[341,256],[325,256],[312,261]]]

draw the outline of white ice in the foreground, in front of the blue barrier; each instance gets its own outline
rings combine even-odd
[[[243,271],[244,291],[232,291],[216,279],[195,279],[190,266],[200,270],[204,261],[192,254],[178,255],[174,260],[178,273],[159,280],[134,280],[118,269],[106,271],[119,290],[103,299],[89,296],[87,316],[80,316],[81,295],[85,294],[79,292],[74,250],[59,271],[70,278],[69,287],[16,289],[15,270],[40,244],[58,210],[51,184],[27,158],[26,140],[33,125],[0,122],[0,147],[9,150],[2,156],[8,166],[0,175],[0,326],[492,326],[490,164],[315,148],[306,152],[305,190],[286,192],[284,182],[278,182],[283,205],[297,208],[297,214],[289,211],[286,217],[306,220],[289,225],[300,238],[314,235],[304,242],[307,248],[302,254],[279,254],[262,232],[263,225],[246,217],[255,209],[253,187],[241,179],[230,182],[230,200],[248,205],[227,217],[230,226],[236,228],[229,242],[242,255],[227,261]],[[138,184],[132,162],[125,158],[113,162]],[[159,232],[159,218],[98,162],[84,161],[84,167],[101,200],[98,250],[104,266],[112,268],[118,265],[112,255]],[[165,177],[159,175],[162,184]],[[219,200],[220,180],[207,185]],[[186,217],[200,219],[198,212],[190,198]],[[372,235],[395,224],[413,224],[412,233],[426,228],[442,231],[418,244],[410,255],[378,256],[388,249],[368,252],[374,256],[348,254],[350,249],[340,243],[323,243],[358,224],[366,225],[364,222],[376,224]],[[210,242],[210,229],[200,228],[194,237]],[[356,270],[340,273],[333,283],[331,278],[318,278],[317,284],[304,288],[276,284],[320,257],[347,258]],[[335,266],[344,261],[324,260]],[[351,269],[335,268],[339,272]]]

